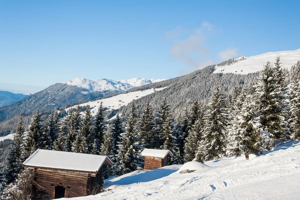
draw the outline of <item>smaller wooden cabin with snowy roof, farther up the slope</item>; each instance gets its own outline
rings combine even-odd
[[[169,150],[145,148],[140,156],[145,158],[144,171],[147,171],[166,166],[173,154]]]

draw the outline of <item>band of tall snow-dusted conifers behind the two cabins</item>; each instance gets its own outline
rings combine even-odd
[[[201,87],[200,85],[198,87]],[[24,131],[19,116],[14,140],[1,142],[1,199],[32,196],[32,174],[22,162],[36,149],[107,155],[114,166],[104,178],[143,168],[144,148],[168,149],[169,164],[204,162],[224,156],[259,156],[285,140],[300,139],[300,62],[286,70],[280,58],[267,62],[255,84],[224,93],[220,83],[209,99],[192,102],[173,116],[164,97],[157,107],[147,101],[129,114],[104,120],[102,104],[93,117],[89,106],[70,109],[65,117],[53,110],[45,120],[36,110]],[[184,98],[184,97],[181,97]],[[203,103],[208,102],[208,103]],[[124,119],[124,120],[122,120]],[[22,198],[20,198],[22,199]]]

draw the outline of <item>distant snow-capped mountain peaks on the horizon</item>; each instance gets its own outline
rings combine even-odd
[[[125,91],[132,87],[138,87],[149,83],[163,81],[158,80],[146,80],[144,78],[132,78],[127,80],[114,81],[110,79],[99,79],[96,81],[88,80],[84,78],[75,78],[70,81],[63,82],[67,85],[76,86],[79,88],[87,89],[89,92],[105,92],[105,91]]]

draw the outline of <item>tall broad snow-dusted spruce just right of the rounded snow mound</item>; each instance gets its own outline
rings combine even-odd
[[[204,128],[198,154],[202,154],[201,160],[218,159],[225,155],[227,103],[220,87],[216,86],[210,102],[204,114]],[[198,158],[199,159],[199,158]]]

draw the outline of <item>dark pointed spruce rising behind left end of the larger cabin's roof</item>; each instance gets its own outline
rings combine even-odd
[[[40,134],[41,134],[40,115],[38,110],[36,110],[34,116],[31,118],[29,131],[27,132],[25,138],[24,154],[23,154],[24,158],[29,157],[36,149],[39,148]]]

